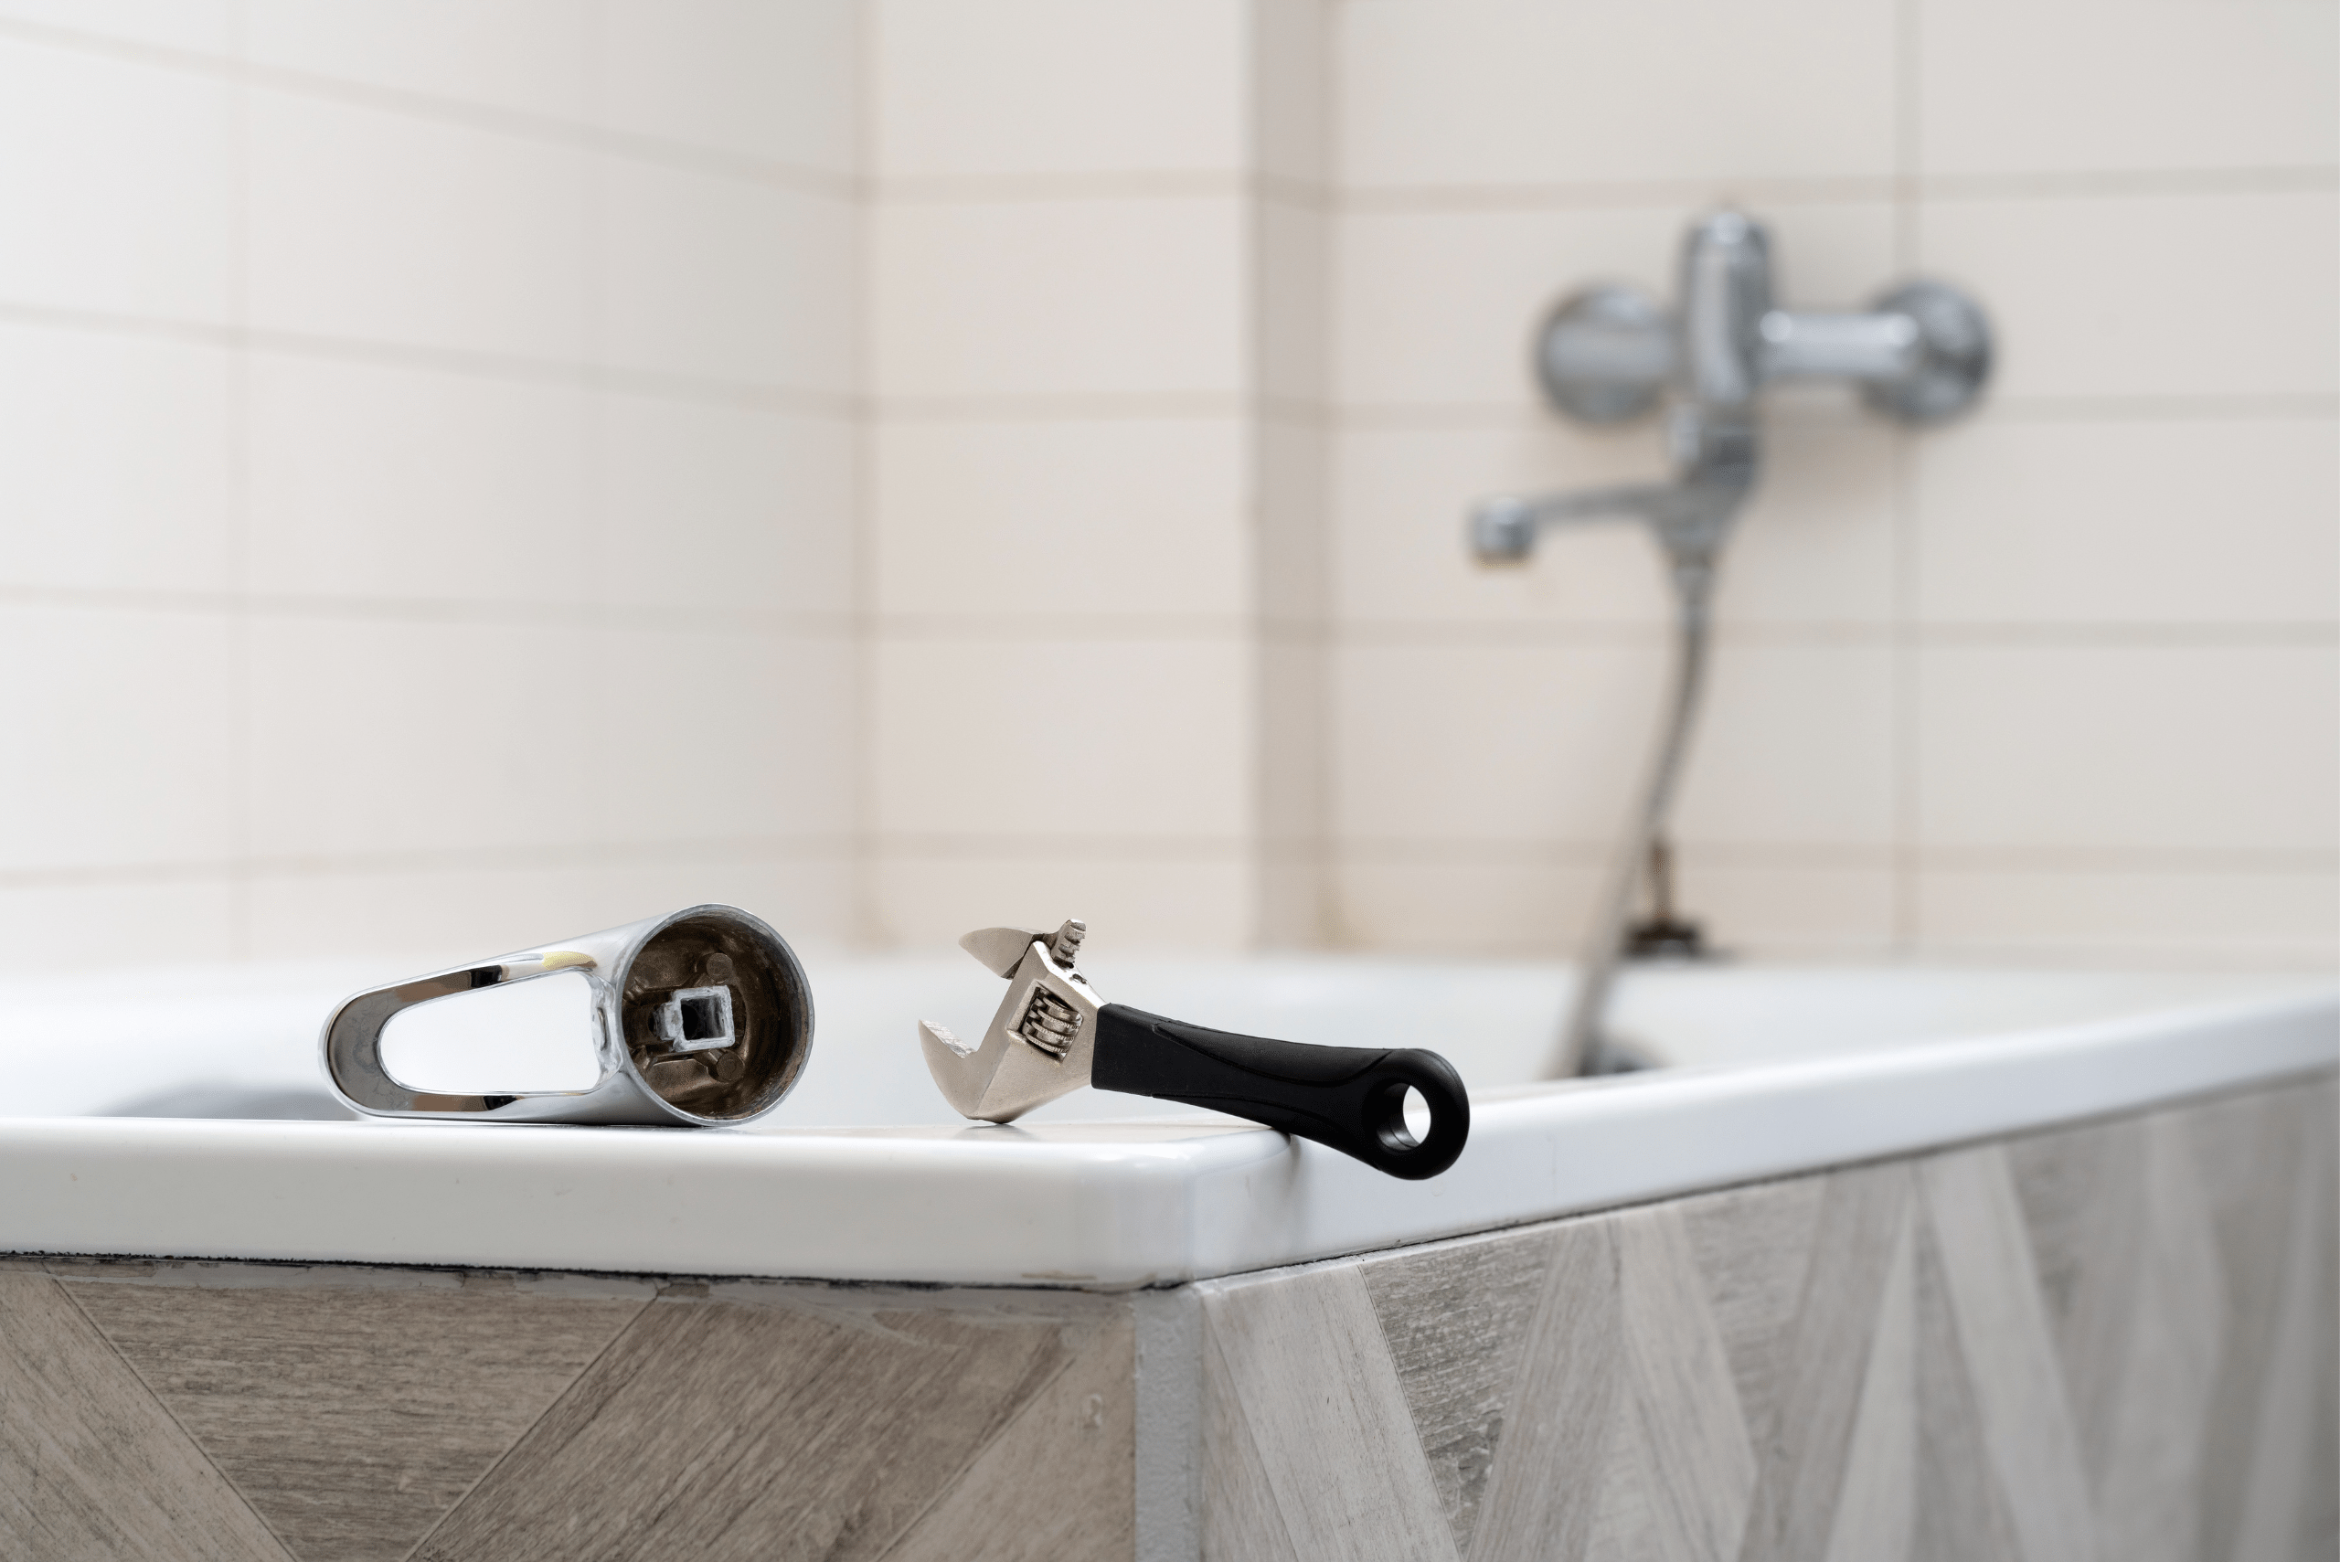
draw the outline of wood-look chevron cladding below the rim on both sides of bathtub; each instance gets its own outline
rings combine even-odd
[[[2333,1562],[2335,1113],[1205,1281],[1158,1424],[1123,1295],[0,1260],[0,1557]]]

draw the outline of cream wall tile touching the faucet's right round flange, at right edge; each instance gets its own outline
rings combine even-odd
[[[1991,313],[1991,395],[2340,388],[2328,192],[1938,201],[1919,234],[1921,269]]]

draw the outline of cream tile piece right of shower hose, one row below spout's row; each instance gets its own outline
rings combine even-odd
[[[1675,809],[1685,846],[1886,846],[1893,704],[1886,645],[1715,645]]]

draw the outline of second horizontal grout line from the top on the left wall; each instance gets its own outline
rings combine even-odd
[[[241,246],[241,236],[239,236]],[[470,374],[480,379],[580,386],[620,395],[639,395],[676,402],[711,402],[723,407],[760,407],[807,419],[852,419],[861,405],[852,395],[805,390],[791,386],[756,386],[700,374],[672,374],[662,369],[627,369],[592,362],[562,362],[555,358],[526,358],[519,353],[487,353],[470,348],[412,346],[398,341],[367,341],[360,337],[325,337],[314,332],[267,330],[241,323],[229,325],[206,320],[168,320],[157,316],[131,316],[98,309],[63,309],[47,304],[0,302],[0,323],[33,325],[44,330],[87,330],[117,337],[187,341],[220,346],[229,351],[267,351],[290,358],[323,358],[330,362],[367,362],[393,369],[433,369],[440,374]]]

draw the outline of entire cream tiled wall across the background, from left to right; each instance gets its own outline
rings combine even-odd
[[[1718,201],[1776,398],[1682,802],[1757,954],[2340,952],[2331,0],[0,0],[0,961],[737,898],[1563,952],[1664,671],[1540,313]]]

